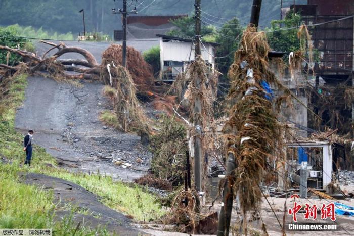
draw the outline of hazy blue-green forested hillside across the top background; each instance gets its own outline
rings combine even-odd
[[[297,0],[296,4],[305,4],[306,0]],[[139,15],[175,15],[194,14],[193,0],[128,0],[128,9],[135,6]],[[292,0],[284,0],[283,6],[292,4]],[[247,24],[250,16],[252,0],[203,0],[203,21],[217,27],[226,19],[234,16]],[[122,0],[116,1],[116,8],[122,7]],[[78,11],[84,9],[86,31],[113,34],[114,29],[121,28],[120,15],[113,15],[112,0],[0,0],[0,9],[7,14],[0,15],[0,25],[19,24],[22,26],[42,27],[44,30],[77,35],[83,31],[82,15]],[[260,26],[269,26],[272,19],[279,19],[280,0],[263,0],[260,15]],[[224,19],[220,19],[224,18]],[[205,23],[204,23],[205,24]],[[216,27],[216,28],[217,28]]]

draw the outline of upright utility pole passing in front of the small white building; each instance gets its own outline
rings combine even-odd
[[[200,0],[195,0],[195,57],[194,60],[197,61],[200,59]],[[195,86],[197,89],[201,89],[201,81],[200,75],[195,73],[193,80],[195,81]],[[197,192],[202,191],[202,124],[197,123],[197,117],[200,116],[202,112],[202,106],[200,103],[200,99],[197,96],[194,101],[194,129],[195,129],[195,136],[194,136],[194,182]],[[198,195],[199,196],[199,195]]]

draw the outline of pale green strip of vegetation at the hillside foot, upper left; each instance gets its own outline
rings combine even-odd
[[[43,39],[59,39],[59,40],[74,40],[71,32],[65,34],[58,34],[57,32],[49,33],[43,30],[42,27],[35,29],[32,26],[23,27],[18,24],[10,25],[6,29],[13,32],[16,36],[29,38],[43,38]]]

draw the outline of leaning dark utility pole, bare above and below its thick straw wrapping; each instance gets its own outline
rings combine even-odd
[[[262,0],[253,0],[252,13],[249,26],[258,27],[260,6]],[[217,226],[217,236],[228,236],[231,222],[232,205],[234,201],[234,171],[237,168],[235,156],[232,152],[227,154],[226,158],[226,175],[223,190],[222,203],[220,208],[220,215]],[[246,220],[246,219],[244,219]]]

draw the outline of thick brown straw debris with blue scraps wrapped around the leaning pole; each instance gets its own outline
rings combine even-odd
[[[228,96],[231,108],[224,127],[227,152],[232,153],[236,169],[232,174],[234,192],[240,200],[242,214],[256,210],[261,202],[259,184],[264,172],[270,172],[270,163],[282,161],[282,125],[277,120],[281,100],[273,97],[267,83],[273,88],[283,85],[270,71],[267,38],[263,32],[248,27],[229,70],[231,88]],[[224,184],[222,184],[224,185]]]

